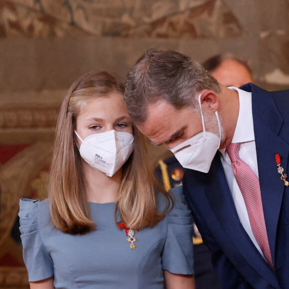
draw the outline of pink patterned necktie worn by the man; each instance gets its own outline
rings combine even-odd
[[[250,166],[239,156],[240,143],[226,148],[232,161],[233,173],[243,195],[253,234],[271,267],[273,262],[267,237],[259,179]]]

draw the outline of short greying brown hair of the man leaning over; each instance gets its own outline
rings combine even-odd
[[[171,49],[152,48],[130,70],[125,102],[133,123],[140,125],[148,105],[165,100],[176,109],[196,108],[196,95],[203,89],[220,93],[217,80],[198,62]]]

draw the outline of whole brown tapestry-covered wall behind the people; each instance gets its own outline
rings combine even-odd
[[[18,200],[45,196],[66,89],[92,69],[125,77],[150,47],[232,52],[260,86],[289,88],[289,0],[0,0],[0,289],[28,288]]]

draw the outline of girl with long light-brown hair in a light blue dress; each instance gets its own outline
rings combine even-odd
[[[181,191],[157,187],[143,136],[105,71],[62,103],[48,198],[20,200],[31,289],[192,289],[192,219]]]

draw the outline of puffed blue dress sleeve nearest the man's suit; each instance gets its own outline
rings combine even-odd
[[[194,274],[193,219],[182,186],[170,190],[174,207],[167,215],[167,235],[162,254],[163,270],[173,274]]]

